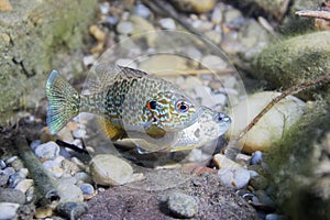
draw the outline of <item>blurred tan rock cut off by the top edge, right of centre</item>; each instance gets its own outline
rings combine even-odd
[[[178,10],[193,13],[204,13],[216,6],[216,0],[173,0],[172,2]]]

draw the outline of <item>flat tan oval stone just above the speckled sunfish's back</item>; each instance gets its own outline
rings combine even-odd
[[[148,59],[141,62],[139,68],[148,74],[176,76],[180,70],[188,69],[188,65],[186,58],[166,54],[151,56]]]

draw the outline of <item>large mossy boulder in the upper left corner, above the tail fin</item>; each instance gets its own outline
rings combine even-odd
[[[0,13],[0,124],[22,108],[35,108],[45,96],[53,68],[81,70],[75,57],[87,35],[98,2],[11,1]],[[82,56],[82,54],[80,55]]]

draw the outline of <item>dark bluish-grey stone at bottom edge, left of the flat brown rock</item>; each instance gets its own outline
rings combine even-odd
[[[61,202],[56,207],[56,212],[66,219],[79,219],[88,210],[85,202]]]

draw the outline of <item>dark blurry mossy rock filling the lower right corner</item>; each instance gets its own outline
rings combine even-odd
[[[329,110],[329,101],[315,102],[267,160],[277,204],[290,219],[330,219]]]

